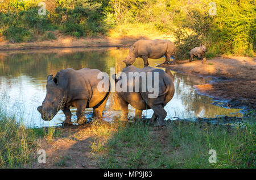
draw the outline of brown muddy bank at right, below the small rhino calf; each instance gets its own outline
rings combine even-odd
[[[168,65],[172,70],[196,74],[210,79],[209,83],[196,85],[199,93],[225,99],[232,108],[256,108],[256,58],[220,56],[205,64],[177,61]]]

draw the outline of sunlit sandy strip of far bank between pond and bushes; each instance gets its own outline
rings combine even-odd
[[[52,48],[86,48],[86,47],[126,47],[139,39],[170,39],[165,35],[153,36],[98,36],[76,38],[63,35],[59,31],[51,31],[55,40],[32,41],[26,43],[11,43],[0,37],[0,51],[26,50],[26,49],[52,49]]]

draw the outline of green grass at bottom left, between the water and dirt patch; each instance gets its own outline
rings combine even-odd
[[[0,168],[30,168],[39,139],[51,141],[60,133],[54,127],[28,129],[0,108]]]

